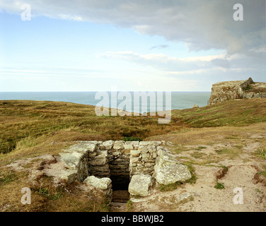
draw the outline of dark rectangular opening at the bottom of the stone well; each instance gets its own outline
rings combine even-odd
[[[129,200],[129,175],[128,177],[112,176],[112,202],[126,203]]]

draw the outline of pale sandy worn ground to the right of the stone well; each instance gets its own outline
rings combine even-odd
[[[133,199],[133,210],[265,212],[265,177],[255,179],[258,172],[265,172],[266,160],[257,155],[260,148],[266,147],[265,130],[265,124],[258,124],[234,130],[195,129],[161,137],[175,143],[170,149],[178,160],[192,162],[197,181],[173,191],[154,189],[146,198]],[[216,177],[226,167],[227,172]],[[217,182],[224,188],[214,188]],[[239,191],[243,191],[243,204],[238,203]]]

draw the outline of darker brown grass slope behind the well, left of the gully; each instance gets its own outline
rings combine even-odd
[[[9,153],[25,138],[57,136],[60,141],[121,140],[175,130],[157,117],[98,117],[93,106],[65,102],[0,101],[0,153]]]

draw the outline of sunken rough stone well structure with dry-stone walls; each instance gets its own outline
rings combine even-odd
[[[191,177],[187,167],[170,154],[166,148],[169,144],[165,141],[76,141],[59,153],[65,168],[61,178],[96,186],[108,197],[112,197],[112,189],[146,196],[155,180],[159,184],[171,184]]]

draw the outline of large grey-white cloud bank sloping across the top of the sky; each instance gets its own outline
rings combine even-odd
[[[0,8],[21,13],[23,0],[1,0]],[[33,15],[88,20],[132,28],[187,43],[191,50],[226,49],[229,54],[265,49],[265,0],[54,1],[28,0]],[[244,20],[233,20],[233,4],[243,4]]]

